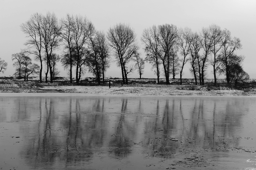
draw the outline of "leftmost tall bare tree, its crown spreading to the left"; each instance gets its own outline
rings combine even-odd
[[[36,60],[40,61],[39,80],[42,81],[43,58],[42,58],[42,14],[34,13],[30,19],[20,25],[21,31],[26,34],[28,38],[24,43],[28,46],[27,52],[35,55]],[[19,73],[20,77],[20,73]]]

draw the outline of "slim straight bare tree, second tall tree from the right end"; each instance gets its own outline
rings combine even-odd
[[[217,54],[222,47],[221,29],[219,26],[212,24],[210,25],[210,32],[212,35],[212,48],[210,50],[212,51],[212,54],[213,54],[211,58],[211,65],[213,66],[214,85],[216,85],[217,84],[216,74],[220,68],[220,60]]]

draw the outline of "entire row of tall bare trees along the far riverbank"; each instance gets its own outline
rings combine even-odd
[[[204,85],[206,69],[212,65],[214,84],[217,77],[225,74],[227,83],[248,79],[244,72],[242,62],[244,56],[236,54],[236,50],[242,48],[241,41],[232,37],[227,29],[221,30],[219,26],[212,24],[203,27],[199,33],[190,28],[177,28],[175,25],[153,25],[144,29],[141,36],[146,58],[139,53],[139,45],[135,31],[130,25],[119,23],[108,29],[107,35],[97,31],[92,22],[86,17],[67,14],[65,18],[58,20],[54,13],[46,15],[33,14],[30,19],[21,24],[21,30],[28,37],[28,54],[36,56],[40,61],[40,82],[42,82],[43,62],[46,64],[45,81],[50,73],[50,82],[58,73],[56,63],[60,60],[66,70],[69,71],[70,83],[72,83],[72,69],[76,68],[76,83],[81,75],[88,69],[95,75],[98,84],[104,73],[110,66],[110,51],[117,66],[121,68],[123,83],[128,84],[128,74],[134,69],[143,74],[145,61],[152,65],[152,69],[159,77],[161,71],[170,84],[169,79],[180,73],[180,84],[186,63],[190,64],[190,72],[199,79],[200,85]],[[56,58],[55,50],[64,47],[61,57]],[[135,63],[135,66],[134,66]],[[54,71],[55,68],[55,71]]]

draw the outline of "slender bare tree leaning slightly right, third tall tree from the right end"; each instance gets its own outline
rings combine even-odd
[[[202,68],[201,68],[201,77],[202,77],[202,85],[204,85],[204,69],[207,67],[207,62],[209,61],[209,54],[211,54],[211,49],[213,46],[213,35],[211,34],[210,27],[203,27],[201,30],[201,45],[203,48],[202,55]]]

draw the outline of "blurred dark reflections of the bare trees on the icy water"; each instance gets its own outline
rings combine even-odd
[[[20,154],[32,168],[69,167],[89,163],[99,153],[115,159],[133,152],[172,158],[188,147],[236,147],[234,129],[242,127],[254,104],[193,97],[17,97],[11,118],[30,122],[20,124],[27,139]]]

